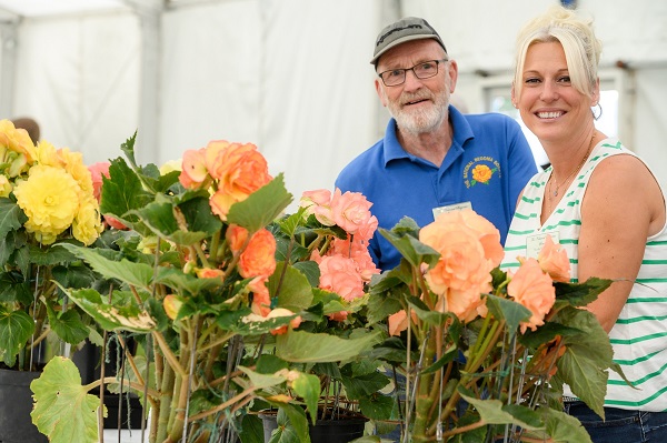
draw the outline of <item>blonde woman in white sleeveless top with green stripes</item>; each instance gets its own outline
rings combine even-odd
[[[589,309],[634,386],[609,373],[605,421],[567,386],[565,409],[595,443],[667,442],[665,194],[644,161],[595,127],[600,52],[593,20],[561,7],[519,32],[512,102],[551,168],[519,198],[502,266],[536,255],[550,235],[574,281],[616,281]]]

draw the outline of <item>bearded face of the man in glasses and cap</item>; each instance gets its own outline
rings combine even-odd
[[[446,58],[442,47],[432,39],[408,41],[382,54],[377,72],[409,69],[426,61]],[[418,79],[414,71],[407,71],[405,82],[395,87],[387,87],[381,79],[376,79],[376,90],[398,127],[420,134],[434,131],[447,118],[456,78],[456,62],[440,61],[438,73],[431,78]]]

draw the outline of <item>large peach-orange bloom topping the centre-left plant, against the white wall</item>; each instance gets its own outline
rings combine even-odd
[[[207,147],[206,164],[218,180],[218,191],[210,199],[211,210],[222,221],[233,203],[271,181],[266,159],[251,143],[212,141]]]

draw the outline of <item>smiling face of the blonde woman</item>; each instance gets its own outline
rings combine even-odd
[[[593,124],[594,98],[573,87],[560,42],[530,46],[521,81],[521,95],[514,97],[512,89],[512,99],[521,119],[540,141],[567,140]]]

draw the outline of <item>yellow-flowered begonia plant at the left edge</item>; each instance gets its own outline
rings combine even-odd
[[[60,352],[47,343],[99,342],[90,319],[58,288],[91,286],[97,275],[59,245],[92,244],[102,223],[80,153],[47,141],[36,147],[26,130],[1,120],[0,159],[0,387],[10,390],[1,394],[4,399],[17,399],[3,402],[9,407],[0,420],[11,426],[0,425],[0,440],[14,441],[27,439],[24,432],[39,435],[31,431],[28,385],[50,354]],[[24,415],[28,431],[20,430],[11,412]]]

